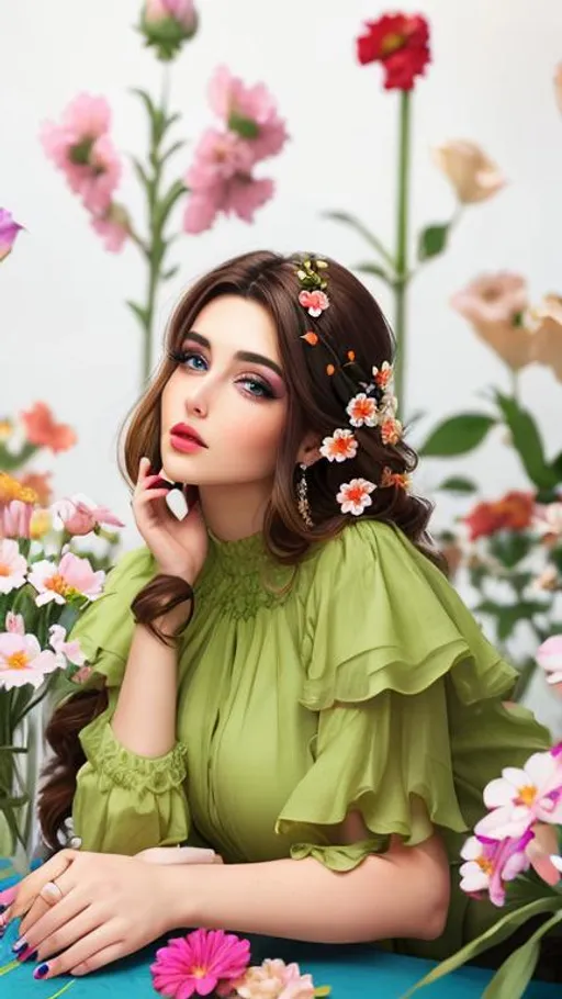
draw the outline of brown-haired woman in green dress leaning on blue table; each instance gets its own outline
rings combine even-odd
[[[442,956],[497,918],[459,851],[549,738],[503,706],[516,674],[408,491],[392,349],[334,261],[249,254],[180,303],[125,438],[146,547],[75,629],[92,677],[48,730],[43,831],[71,813],[81,849],[10,911],[40,977],[177,927]],[[186,842],[225,863],[133,856]]]

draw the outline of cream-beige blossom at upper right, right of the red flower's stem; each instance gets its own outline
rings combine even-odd
[[[507,183],[496,165],[475,143],[451,139],[431,151],[434,162],[452,184],[461,204],[486,201]]]

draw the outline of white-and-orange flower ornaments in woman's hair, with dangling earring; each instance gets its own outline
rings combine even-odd
[[[318,318],[323,312],[329,308],[329,298],[326,293],[327,267],[325,260],[313,258],[306,258],[296,266],[296,277],[301,285],[299,302],[314,318]],[[396,445],[402,439],[403,427],[400,419],[396,418],[397,400],[392,391],[392,364],[383,361],[380,368],[373,367],[370,380],[366,381],[364,374],[356,364],[356,356],[352,350],[347,351],[346,361],[341,363],[331,345],[315,330],[308,329],[302,335],[302,339],[310,347],[317,347],[321,344],[327,349],[331,361],[326,364],[325,371],[329,378],[336,373],[346,375],[345,391],[351,397],[347,396],[346,400],[342,400],[342,404],[350,426],[376,428],[383,445]],[[341,393],[338,393],[338,396],[341,396]],[[334,430],[331,437],[324,438],[319,451],[328,461],[341,462],[355,458],[358,448],[359,444],[353,430],[348,427],[339,427]],[[301,465],[301,468],[303,467]],[[406,490],[408,486],[409,476],[407,474],[393,472],[391,468],[384,467],[379,483],[369,482],[367,479],[351,479],[350,482],[344,482],[340,485],[336,500],[342,514],[352,514],[357,517],[363,513],[366,507],[372,505],[371,493],[375,489]],[[305,468],[297,486],[297,495],[301,516],[306,526],[312,527],[306,497]]]

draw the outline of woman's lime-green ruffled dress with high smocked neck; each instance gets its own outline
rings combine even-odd
[[[442,938],[395,942],[442,957],[502,913],[460,891],[459,851],[481,818],[482,789],[550,744],[520,707],[515,671],[460,597],[397,529],[347,526],[297,566],[273,563],[260,535],[210,539],[195,614],[180,643],[177,744],[159,759],[115,739],[134,629],[130,605],[155,574],[127,553],[78,621],[109,708],[81,733],[75,832],[86,850],[133,854],[189,841],[226,862],[314,856],[337,872],[437,828],[451,863]],[[371,835],[330,827],[359,810]]]

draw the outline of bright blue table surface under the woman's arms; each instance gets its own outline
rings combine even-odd
[[[10,879],[2,879],[0,861],[0,888]],[[9,927],[0,941],[0,999],[155,999],[149,966],[160,944],[154,943],[106,969],[83,978],[63,976],[49,981],[35,981],[34,964],[13,964],[11,945],[16,938],[16,927]],[[180,935],[172,933],[170,936]],[[401,999],[416,981],[434,966],[434,962],[417,957],[403,957],[378,951],[366,945],[319,945],[288,940],[251,936],[251,963],[260,964],[266,957],[296,961],[301,970],[313,975],[314,984],[329,985],[330,999]],[[493,972],[484,968],[463,967],[419,991],[420,999],[476,999],[482,996]],[[68,988],[65,988],[68,986]],[[61,991],[64,989],[64,991]],[[561,999],[560,985],[532,981],[525,999]]]

